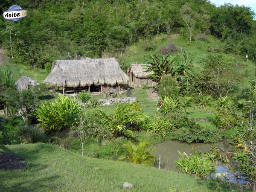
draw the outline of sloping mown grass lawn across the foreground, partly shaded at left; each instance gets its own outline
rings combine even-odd
[[[0,152],[27,157],[29,167],[22,171],[0,171],[0,191],[190,191],[228,192],[227,185],[215,180],[153,167],[111,160],[81,157],[49,144],[0,145]],[[133,189],[122,184],[132,183]]]

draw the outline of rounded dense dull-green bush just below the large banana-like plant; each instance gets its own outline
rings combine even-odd
[[[179,95],[179,90],[176,79],[171,75],[163,75],[158,87],[158,94],[162,99],[165,97],[177,97]]]

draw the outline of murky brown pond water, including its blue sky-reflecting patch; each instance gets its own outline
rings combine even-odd
[[[157,159],[159,155],[161,155],[161,169],[178,171],[175,161],[178,160],[181,156],[178,153],[185,152],[186,154],[192,154],[193,150],[198,150],[200,152],[206,152],[211,149],[212,146],[216,146],[218,148],[227,149],[230,144],[227,140],[218,143],[182,143],[176,140],[168,140],[164,141],[163,143],[155,144],[154,147],[154,154],[156,155]],[[158,165],[156,165],[158,167]],[[219,164],[216,167],[216,173],[225,173],[225,177],[219,177],[222,179],[226,179],[231,183],[236,183],[236,178],[234,177],[233,173],[230,172],[227,166]],[[216,177],[217,174],[211,174],[210,177]],[[244,180],[239,180],[240,184],[244,184]]]

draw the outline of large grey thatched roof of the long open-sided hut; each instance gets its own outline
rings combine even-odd
[[[86,58],[56,60],[44,82],[61,87],[83,87],[91,84],[127,84],[128,80],[115,58]]]

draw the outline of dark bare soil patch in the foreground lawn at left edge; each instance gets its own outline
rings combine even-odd
[[[25,161],[25,157],[17,154],[0,153],[0,170],[17,170],[24,169],[29,166]]]

